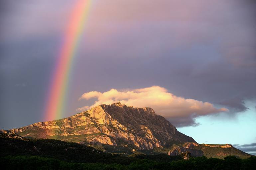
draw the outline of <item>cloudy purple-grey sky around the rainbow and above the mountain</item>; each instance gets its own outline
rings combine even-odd
[[[50,81],[75,0],[0,2],[0,129],[49,121]],[[152,107],[198,143],[256,154],[254,0],[92,0],[63,117]]]

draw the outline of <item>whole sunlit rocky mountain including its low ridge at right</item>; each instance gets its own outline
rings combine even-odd
[[[251,156],[229,144],[198,144],[153,109],[135,108],[119,102],[102,104],[68,118],[0,132],[32,139],[76,142],[105,152],[126,155],[179,155],[190,152],[192,156],[219,158],[227,155]]]

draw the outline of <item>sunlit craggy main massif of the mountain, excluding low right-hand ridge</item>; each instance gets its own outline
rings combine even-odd
[[[50,138],[68,142],[133,146],[136,149],[162,147],[167,142],[195,142],[152,108],[134,108],[114,103],[99,105],[74,116],[38,122],[3,131],[29,138]]]

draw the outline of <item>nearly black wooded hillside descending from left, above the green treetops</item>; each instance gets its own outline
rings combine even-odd
[[[4,134],[0,134],[4,135]],[[135,158],[109,154],[92,147],[53,139],[19,140],[0,138],[0,156],[41,156],[68,162],[102,162],[129,164]]]

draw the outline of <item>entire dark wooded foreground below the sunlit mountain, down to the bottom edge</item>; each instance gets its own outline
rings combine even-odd
[[[13,138],[16,138],[13,136]],[[99,147],[99,149],[102,149]],[[0,134],[1,169],[11,170],[251,170],[256,157],[224,159],[141,152],[125,157],[85,145],[59,140],[10,139]]]

